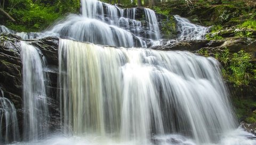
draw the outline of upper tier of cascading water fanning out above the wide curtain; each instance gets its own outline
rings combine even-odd
[[[145,29],[141,21],[135,20],[136,8],[123,10],[95,0],[82,0],[81,4],[82,15],[69,15],[45,35],[55,34],[77,41],[124,47],[147,47],[141,38],[142,31],[145,31],[146,38],[161,38],[156,14],[150,9],[144,11],[148,22]]]

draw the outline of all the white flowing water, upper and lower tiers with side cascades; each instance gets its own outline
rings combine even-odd
[[[217,60],[146,49],[148,41],[161,39],[150,9],[142,10],[143,23],[137,20],[140,8],[119,9],[95,0],[81,4],[81,14],[68,15],[44,33],[18,34],[62,37],[57,101],[61,129],[49,129],[42,53],[22,41],[23,138],[12,144],[256,144],[255,136],[238,128]],[[206,27],[175,19],[179,41],[204,38]],[[2,94],[0,128],[2,120],[14,126],[6,125],[0,134],[0,139],[8,136],[6,142],[19,141],[14,112]]]

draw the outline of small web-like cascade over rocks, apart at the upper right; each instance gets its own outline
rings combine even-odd
[[[186,18],[181,18],[179,15],[174,15],[177,21],[177,29],[180,34],[179,40],[198,40],[204,39],[209,28],[195,25]]]

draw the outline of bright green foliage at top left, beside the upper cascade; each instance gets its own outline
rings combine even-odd
[[[15,31],[39,31],[50,26],[67,12],[78,12],[79,0],[10,0],[6,10],[17,22],[4,25]]]

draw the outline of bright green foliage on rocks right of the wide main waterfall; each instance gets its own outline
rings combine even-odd
[[[222,51],[209,52],[207,49],[201,49],[197,53],[209,57],[214,55],[223,66],[222,75],[229,82],[234,83],[235,87],[249,85],[252,79],[256,78],[255,66],[252,65],[251,55],[241,50],[230,55],[229,49],[226,47]]]

